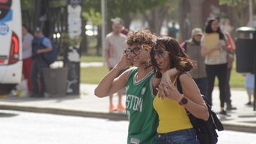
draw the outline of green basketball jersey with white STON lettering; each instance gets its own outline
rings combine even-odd
[[[134,68],[127,76],[127,115],[129,118],[129,144],[153,144],[158,126],[157,113],[153,107],[154,94],[152,89],[153,71],[146,77],[136,81],[138,69]]]

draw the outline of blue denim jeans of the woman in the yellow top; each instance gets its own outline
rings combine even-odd
[[[175,132],[157,134],[157,144],[200,144],[195,129],[182,129]]]

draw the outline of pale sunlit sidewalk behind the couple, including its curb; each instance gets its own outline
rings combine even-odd
[[[0,99],[0,109],[127,120],[125,113],[108,113],[109,99],[94,96],[95,87],[96,85],[81,84],[80,96],[59,98],[4,96]],[[213,93],[213,110],[219,112],[219,91],[217,89],[214,88]],[[228,113],[230,116],[218,115],[225,129],[256,133],[256,112],[253,111],[253,107],[244,105],[247,102],[246,91],[233,90],[232,99],[233,106],[236,106],[238,110]],[[117,96],[114,96],[113,102],[117,102]],[[125,103],[125,96],[123,103]]]

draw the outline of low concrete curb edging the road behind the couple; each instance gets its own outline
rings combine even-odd
[[[24,105],[0,105],[0,110],[18,110],[31,113],[48,113],[56,115],[71,115],[89,118],[106,118],[113,121],[128,121],[127,115],[120,113],[101,113],[101,112],[90,112],[83,110],[69,110],[64,108],[53,108],[53,107],[31,107]],[[225,130],[231,130],[236,132],[250,132],[256,133],[256,126],[249,124],[240,124],[236,122],[227,123],[222,121]]]

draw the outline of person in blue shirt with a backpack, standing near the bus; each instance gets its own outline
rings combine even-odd
[[[43,97],[45,94],[45,80],[42,69],[49,68],[45,53],[50,53],[53,50],[50,39],[42,34],[42,29],[36,27],[34,29],[34,39],[32,42],[33,64],[31,68],[31,81],[33,90],[31,97]]]

